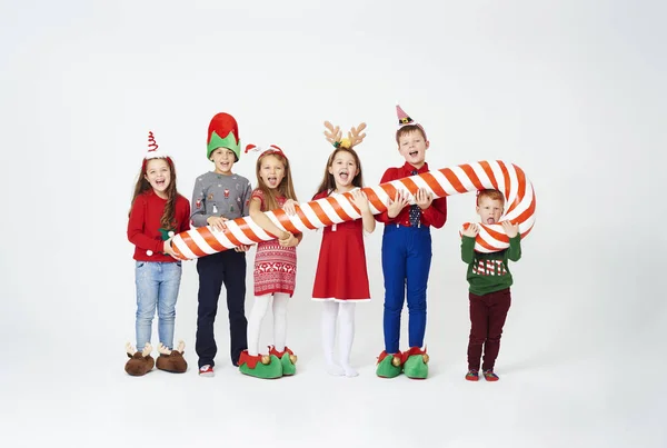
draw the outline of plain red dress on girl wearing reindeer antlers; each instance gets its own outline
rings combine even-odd
[[[312,200],[327,196],[327,191],[323,191]],[[361,219],[323,229],[312,300],[370,300]]]

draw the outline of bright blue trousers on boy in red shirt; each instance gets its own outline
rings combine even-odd
[[[400,313],[408,296],[408,341],[424,346],[426,286],[431,262],[430,228],[386,225],[382,235],[385,275],[385,350],[396,354],[400,342]]]

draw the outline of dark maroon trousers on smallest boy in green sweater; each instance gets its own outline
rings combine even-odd
[[[509,288],[484,296],[470,292],[470,340],[468,369],[479,370],[484,347],[482,370],[492,369],[500,351],[500,336],[511,305]]]

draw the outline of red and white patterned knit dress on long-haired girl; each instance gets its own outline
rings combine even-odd
[[[263,192],[252,191],[252,198],[261,201],[265,209]],[[285,198],[276,198],[282,207]],[[265,296],[273,292],[285,292],[289,297],[295,293],[297,281],[297,248],[282,247],[277,239],[261,241],[255,252],[255,296]]]

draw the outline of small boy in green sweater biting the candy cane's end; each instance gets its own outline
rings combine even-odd
[[[477,213],[485,225],[498,223],[505,209],[505,197],[498,190],[485,189],[477,195]],[[518,225],[500,222],[509,237],[509,248],[491,253],[475,250],[475,238],[479,226],[470,223],[462,232],[461,259],[468,265],[467,279],[470,283],[470,339],[468,342],[468,374],[466,379],[479,379],[479,364],[484,347],[481,370],[487,381],[497,381],[494,374],[496,358],[500,351],[500,335],[511,303],[509,287],[512,283],[508,260],[521,258],[521,236]]]

